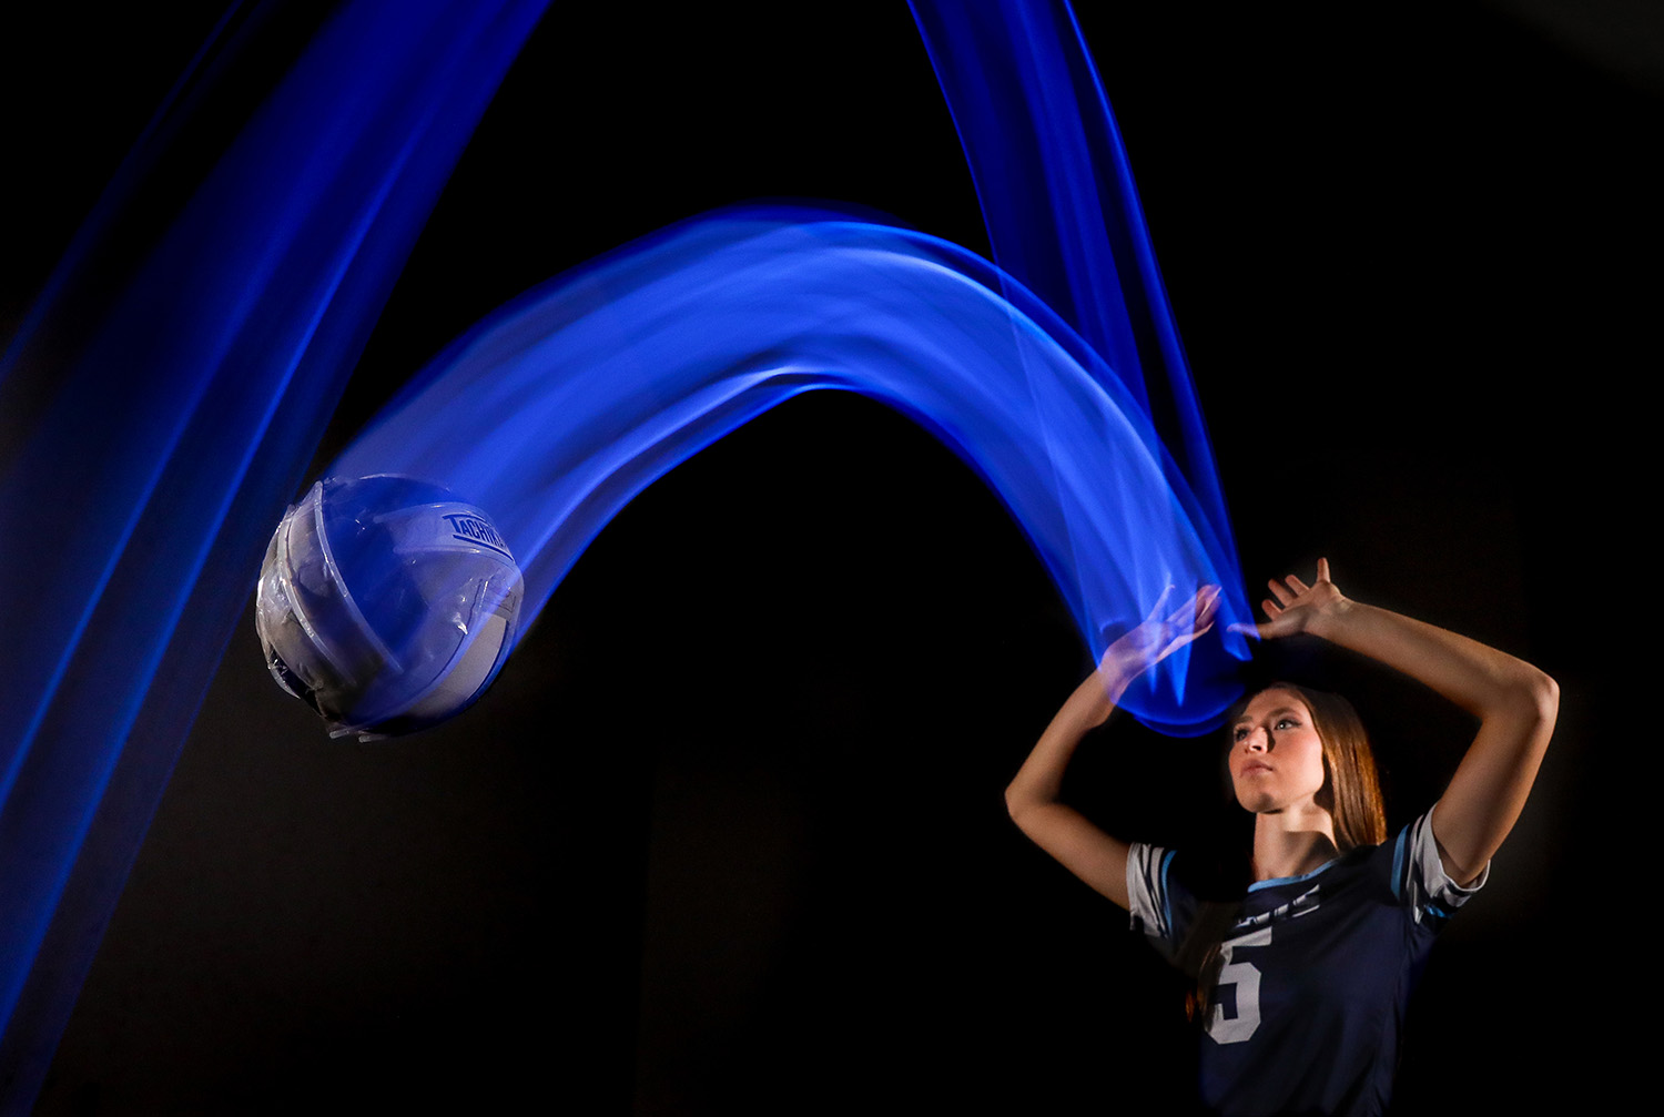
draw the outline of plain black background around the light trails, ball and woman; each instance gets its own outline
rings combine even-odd
[[[1326,554],[1351,596],[1564,688],[1493,882],[1434,952],[1394,1109],[1544,1082],[1602,1109],[1652,997],[1627,932],[1652,717],[1621,664],[1652,628],[1661,87],[1456,0],[1080,7],[1250,583]],[[15,17],[8,331],[216,15]],[[554,5],[316,468],[498,303],[754,198],[987,253],[904,3]],[[1270,653],[1358,702],[1394,826],[1438,796],[1459,714]],[[1176,1105],[1173,980],[1000,802],[1088,668],[998,503],[842,393],[654,484],[439,729],[329,741],[245,624],[40,1112]],[[1128,837],[1196,841],[1235,826],[1215,764],[1117,722],[1068,791]]]

